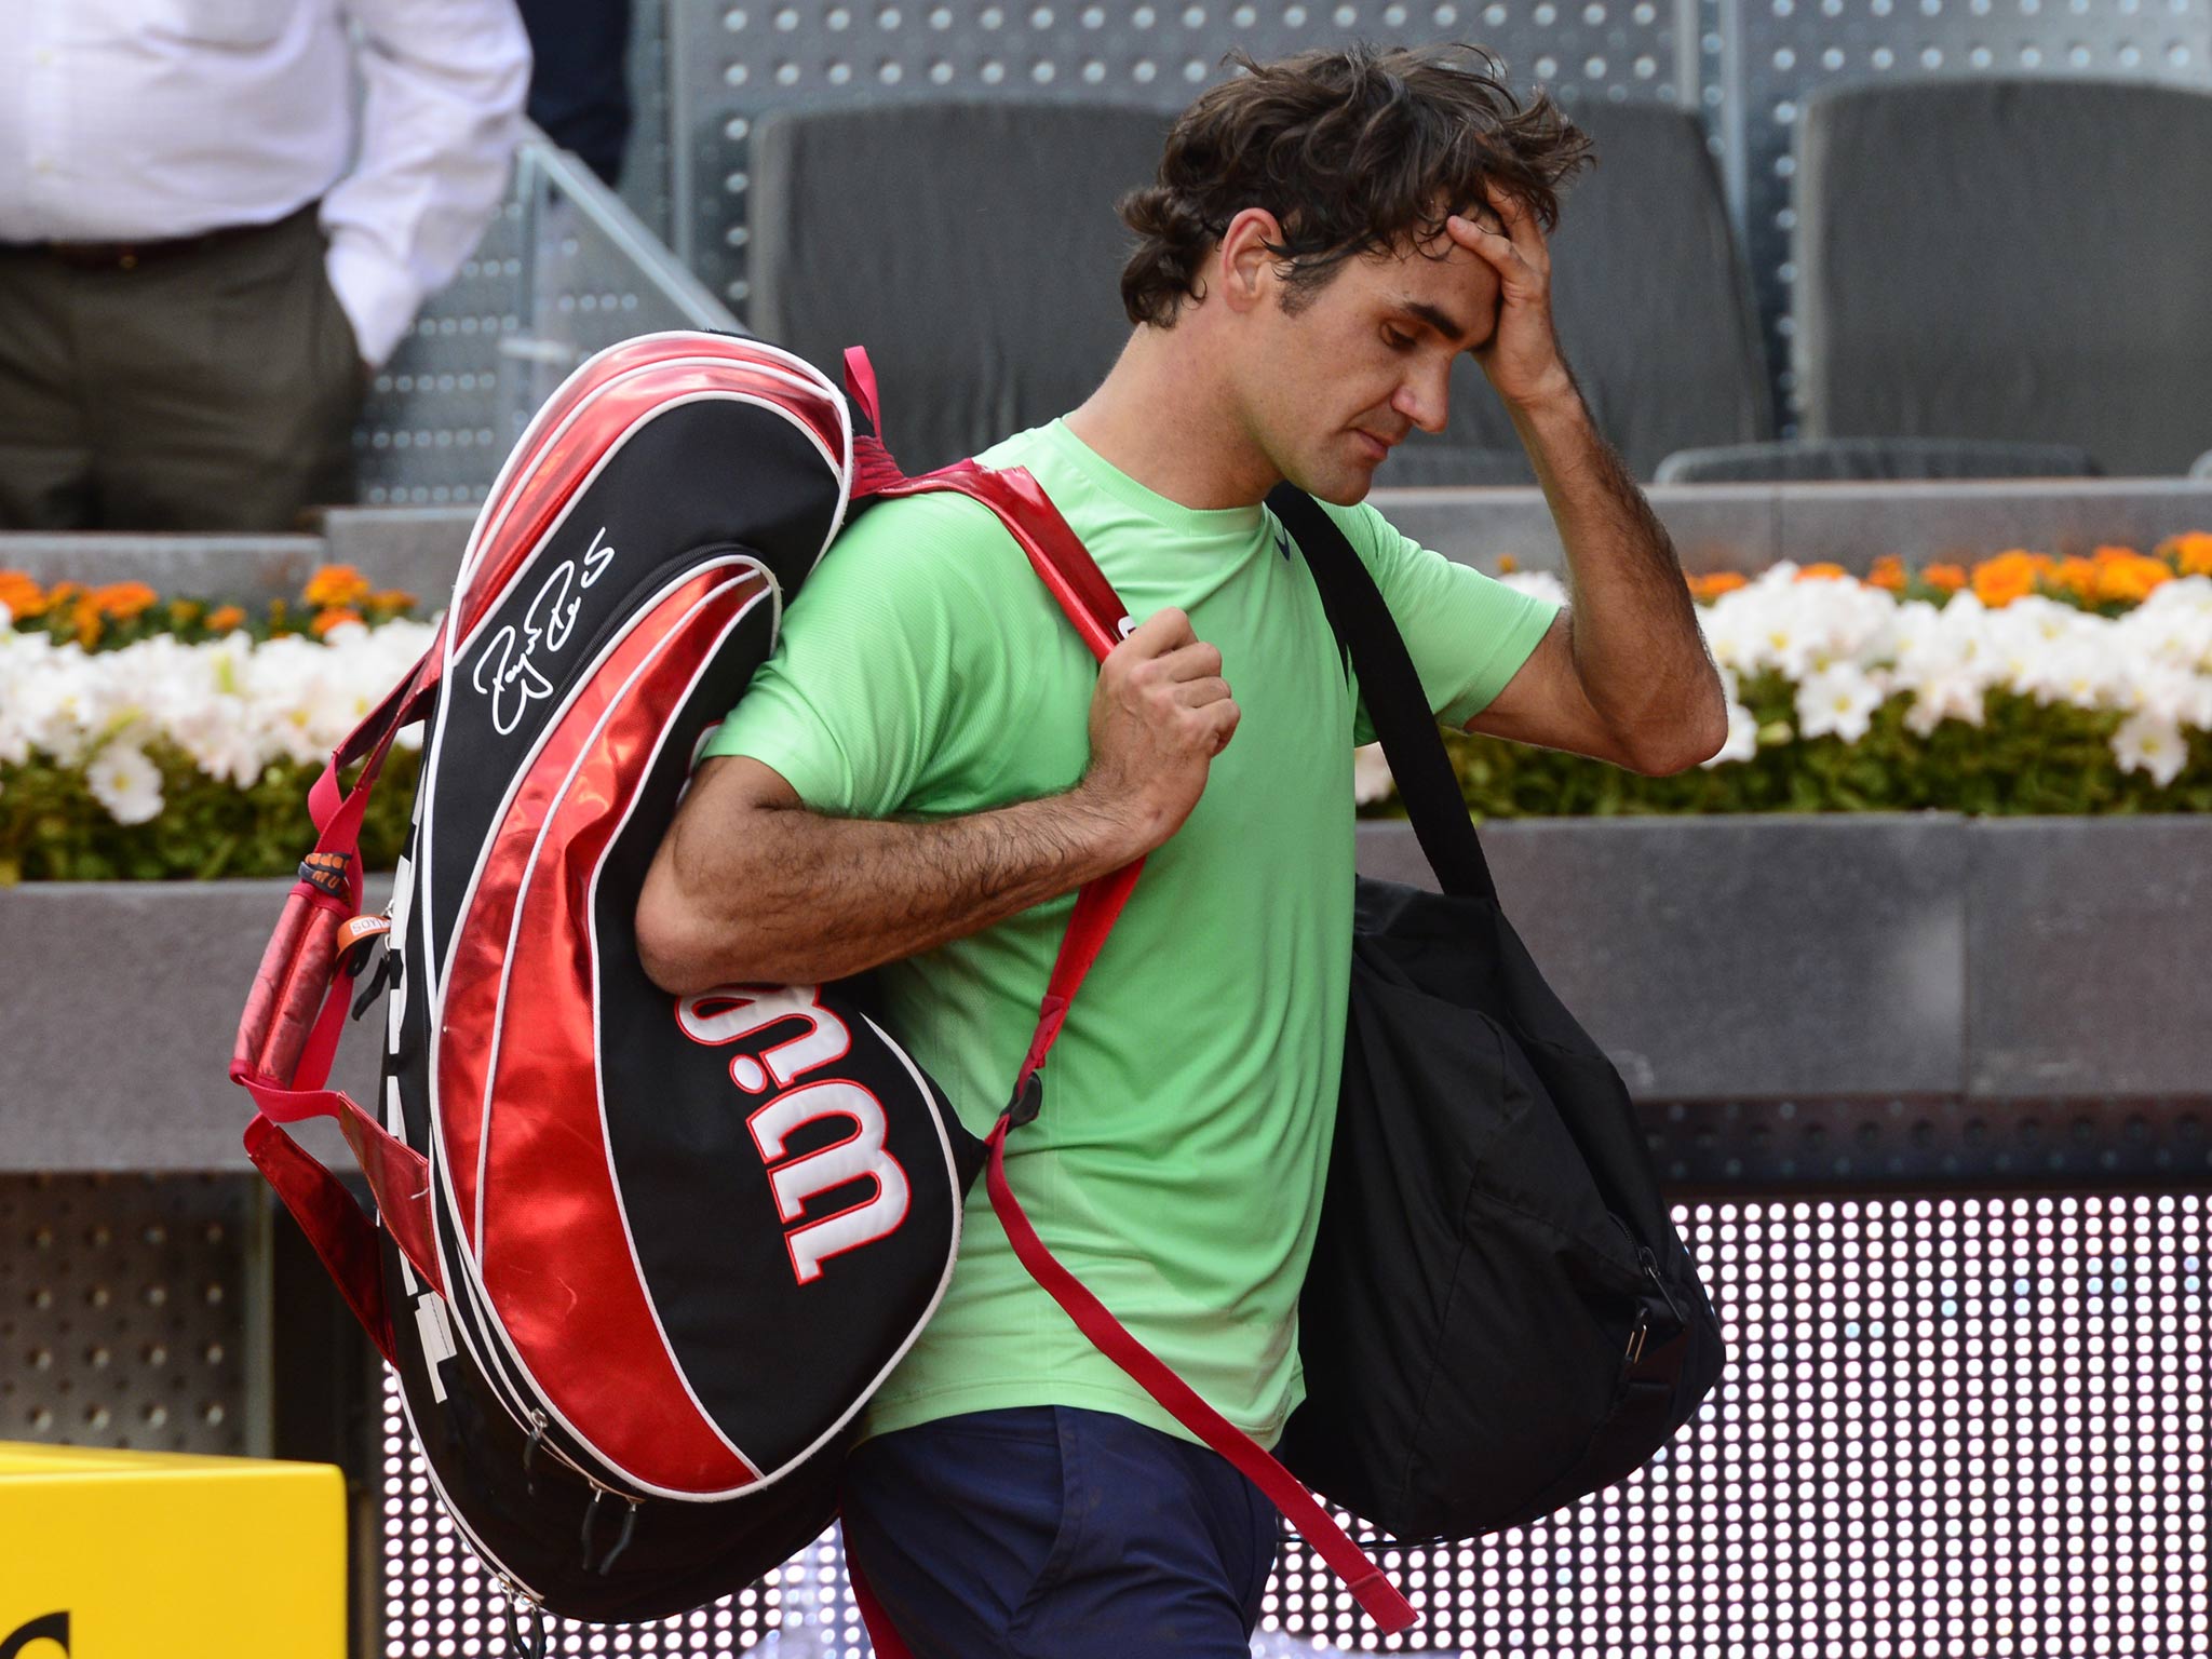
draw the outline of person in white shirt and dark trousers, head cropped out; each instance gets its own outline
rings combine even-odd
[[[0,529],[283,531],[507,190],[515,0],[9,0]]]

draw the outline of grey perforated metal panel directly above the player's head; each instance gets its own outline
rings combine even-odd
[[[737,0],[686,7],[672,46],[679,252],[743,312],[745,144],[772,108],[1020,93],[1181,108],[1232,46],[1480,40],[1575,97],[1690,97],[1683,0]],[[688,210],[684,210],[688,208]]]

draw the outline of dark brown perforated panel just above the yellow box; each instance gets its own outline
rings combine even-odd
[[[252,1177],[0,1177],[0,1440],[246,1453]]]

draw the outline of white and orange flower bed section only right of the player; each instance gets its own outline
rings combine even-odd
[[[1506,575],[1564,597],[1551,575]],[[1449,734],[1478,816],[2212,810],[2212,535],[2154,555],[2015,551],[1867,580],[1776,564],[1694,577],[1728,686],[1728,745],[1646,779]],[[1389,772],[1363,752],[1363,807]]]

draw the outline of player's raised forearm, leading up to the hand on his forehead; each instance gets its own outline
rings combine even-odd
[[[1655,765],[1705,759],[1728,712],[1666,526],[1573,385],[1513,409],[1513,425],[1566,549],[1575,668],[1590,703]]]

